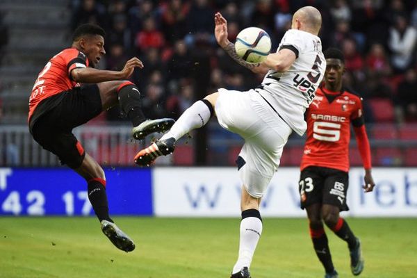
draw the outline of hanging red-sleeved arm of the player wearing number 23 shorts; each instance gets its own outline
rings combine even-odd
[[[361,111],[361,109],[359,110]],[[360,112],[361,113],[361,112]],[[368,135],[366,134],[366,128],[363,120],[363,115],[352,120],[353,130],[355,138],[357,140],[359,153],[363,161],[363,167],[365,168],[365,185],[362,186],[365,192],[370,192],[375,186],[375,182],[372,177],[372,164],[370,158],[370,145]]]

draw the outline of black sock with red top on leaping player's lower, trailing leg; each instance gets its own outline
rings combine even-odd
[[[100,222],[101,220],[113,222],[108,215],[106,181],[104,179],[91,179],[88,181],[88,199]]]

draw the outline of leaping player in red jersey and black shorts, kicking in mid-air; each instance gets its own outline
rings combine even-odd
[[[150,133],[166,131],[174,120],[146,120],[143,115],[140,92],[136,85],[126,81],[136,67],[143,67],[138,58],[128,60],[120,72],[94,68],[106,54],[104,36],[104,30],[96,25],[76,28],[72,47],[51,58],[33,85],[28,125],[36,142],[87,181],[88,198],[101,230],[117,248],[129,252],[135,248],[133,241],[108,215],[104,170],[85,154],[72,129],[117,103],[131,120],[133,138],[138,140]]]

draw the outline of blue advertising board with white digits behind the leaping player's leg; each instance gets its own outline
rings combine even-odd
[[[105,170],[111,215],[153,215],[149,169]],[[0,215],[94,215],[87,183],[63,168],[0,168]]]

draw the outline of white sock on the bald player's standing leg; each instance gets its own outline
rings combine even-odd
[[[261,234],[262,221],[259,218],[248,217],[240,222],[239,257],[231,273],[239,272],[244,266],[250,268]]]

